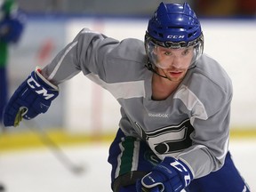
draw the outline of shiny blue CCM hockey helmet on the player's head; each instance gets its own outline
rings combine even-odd
[[[154,46],[179,49],[194,46],[195,62],[203,53],[204,36],[196,13],[188,3],[159,4],[153,17],[148,21],[145,48],[148,58],[154,63]],[[156,64],[156,63],[155,63]]]

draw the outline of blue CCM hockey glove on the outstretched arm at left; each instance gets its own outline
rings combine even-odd
[[[58,95],[58,87],[46,80],[36,68],[20,84],[4,109],[4,126],[18,126],[22,118],[31,119],[45,113]]]

